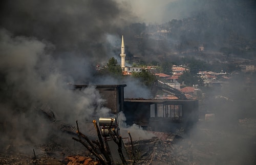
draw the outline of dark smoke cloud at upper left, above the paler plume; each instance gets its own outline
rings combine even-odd
[[[3,1],[1,26],[14,35],[47,40],[58,51],[99,60],[109,58],[106,34],[120,33],[133,18],[124,7],[116,1],[98,0]]]

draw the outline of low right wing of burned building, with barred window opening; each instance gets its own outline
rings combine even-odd
[[[147,130],[189,130],[198,121],[198,100],[125,99],[126,123]]]

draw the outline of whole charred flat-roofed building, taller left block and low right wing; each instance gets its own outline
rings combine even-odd
[[[75,85],[75,89],[88,85]],[[128,125],[137,124],[146,130],[174,132],[189,130],[198,121],[198,100],[124,99],[126,85],[97,85],[111,113],[123,112]]]

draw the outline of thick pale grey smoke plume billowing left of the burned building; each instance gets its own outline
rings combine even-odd
[[[72,78],[54,65],[56,60],[47,53],[48,46],[35,38],[0,31],[3,141],[12,137],[14,142],[39,143],[52,133],[52,122],[86,122],[110,112],[102,107],[104,100],[94,87],[72,89],[67,83]]]

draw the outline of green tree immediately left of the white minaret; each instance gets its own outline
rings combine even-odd
[[[106,64],[108,73],[112,76],[121,76],[122,68],[118,65],[117,60],[115,58],[110,58],[109,62]]]

